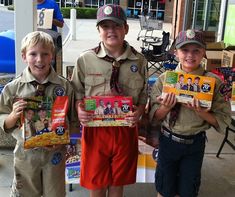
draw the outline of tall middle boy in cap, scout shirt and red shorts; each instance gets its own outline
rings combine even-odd
[[[125,40],[128,24],[118,5],[104,5],[97,12],[98,47],[81,54],[72,83],[76,92],[78,117],[83,127],[80,184],[93,197],[123,196],[123,186],[135,183],[137,122],[147,101],[147,61]],[[92,115],[84,110],[87,96],[132,96],[134,112],[127,118],[131,127],[86,127]],[[92,159],[91,159],[92,158]]]

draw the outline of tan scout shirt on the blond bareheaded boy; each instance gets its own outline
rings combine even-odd
[[[29,72],[28,67],[24,69],[23,73],[16,77],[12,82],[8,83],[2,93],[0,94],[0,128],[4,130],[4,121],[8,114],[12,111],[13,102],[16,98],[25,98],[31,97],[35,95],[36,89],[30,84],[30,82],[35,81],[36,79]],[[67,117],[67,121],[69,120],[70,130],[71,128],[76,127],[78,124],[77,114],[74,107],[74,91],[70,84],[70,82],[57,75],[57,73],[51,69],[51,73],[49,74],[47,80],[50,85],[46,88],[45,95],[52,96],[53,99],[57,95],[69,95],[69,114]],[[18,128],[14,128],[11,131],[5,132],[13,132],[12,135],[17,140],[22,140],[22,131]]]

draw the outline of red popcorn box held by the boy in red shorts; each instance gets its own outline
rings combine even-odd
[[[86,111],[94,114],[90,127],[130,126],[125,117],[132,111],[132,97],[93,96],[84,99]]]

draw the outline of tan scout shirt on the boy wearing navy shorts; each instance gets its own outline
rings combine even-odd
[[[177,66],[176,71],[185,73],[183,70],[181,70],[180,64]],[[205,72],[202,67],[199,67],[190,74],[201,76],[205,75],[216,78],[211,112],[218,121],[218,131],[224,132],[227,125],[231,123],[231,107],[229,102],[224,101],[223,96],[219,92],[222,81],[217,75],[211,72]],[[160,75],[151,92],[151,111],[149,114],[151,120],[154,118],[155,111],[160,107],[160,104],[156,102],[156,97],[162,94],[164,78],[165,73]],[[170,113],[168,113],[166,119],[162,122],[162,125],[167,128],[169,128],[169,115]],[[179,116],[176,120],[175,126],[171,130],[174,133],[181,135],[193,135],[200,131],[207,130],[208,128],[210,128],[210,125],[206,121],[201,119],[193,110],[190,110],[181,105]]]

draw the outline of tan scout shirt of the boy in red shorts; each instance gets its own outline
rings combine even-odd
[[[88,50],[81,54],[74,68],[72,83],[76,99],[84,96],[111,95],[110,78],[112,63],[104,59],[107,55],[103,44],[96,54]],[[138,52],[134,53],[127,44],[125,52],[116,61],[126,59],[120,66],[119,84],[125,96],[132,96],[135,105],[146,104],[147,101],[147,60]]]

